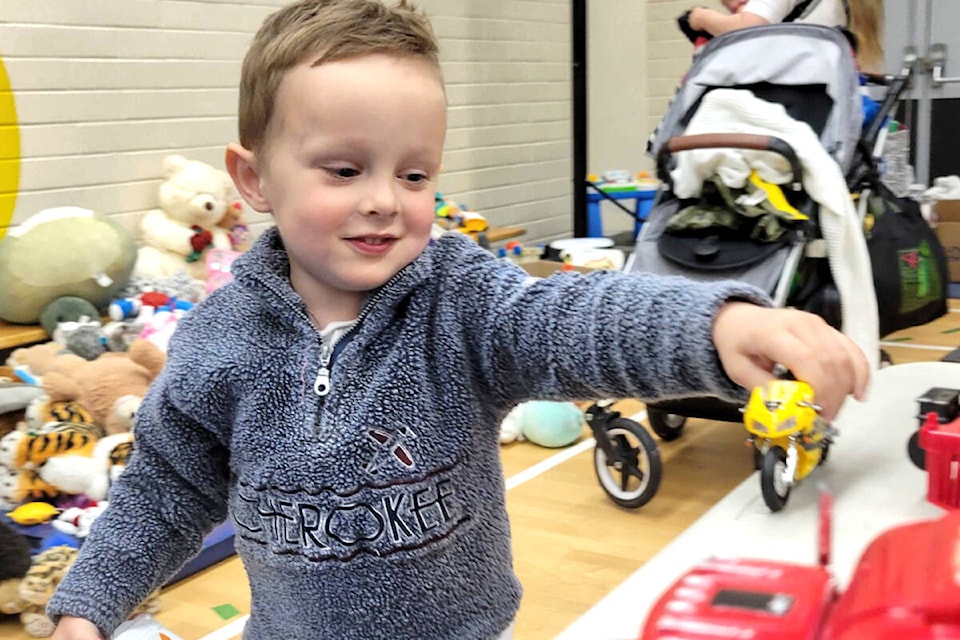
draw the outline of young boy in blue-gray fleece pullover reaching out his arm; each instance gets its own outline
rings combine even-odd
[[[137,450],[49,613],[109,634],[230,518],[244,637],[510,637],[498,433],[532,398],[743,398],[775,362],[828,417],[862,352],[737,283],[596,273],[530,283],[431,242],[446,133],[437,45],[408,3],[304,0],[244,61],[226,163],[276,228],[181,323]]]

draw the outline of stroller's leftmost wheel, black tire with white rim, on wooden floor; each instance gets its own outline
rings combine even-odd
[[[660,488],[663,464],[660,449],[643,425],[627,418],[614,418],[607,424],[606,437],[615,453],[610,459],[603,448],[593,451],[597,480],[611,500],[627,509],[647,504]]]

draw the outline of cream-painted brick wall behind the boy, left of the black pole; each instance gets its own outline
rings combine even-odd
[[[0,60],[16,104],[20,176],[0,225],[76,205],[137,232],[162,158],[222,166],[240,60],[284,0],[3,0]],[[450,97],[440,189],[528,237],[571,228],[568,0],[421,0]],[[0,122],[10,132],[11,122]],[[15,171],[9,135],[0,172]],[[3,184],[0,180],[0,184]],[[6,182],[9,183],[9,180]],[[8,204],[3,210],[3,203]],[[248,211],[255,229],[269,218]]]

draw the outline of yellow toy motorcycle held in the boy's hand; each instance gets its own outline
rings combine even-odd
[[[783,509],[793,485],[827,460],[837,432],[820,417],[821,410],[810,385],[798,380],[772,380],[750,394],[743,423],[771,511]]]

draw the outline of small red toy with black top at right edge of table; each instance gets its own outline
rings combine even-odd
[[[944,509],[960,508],[960,390],[933,387],[917,403],[919,427],[907,454],[927,471],[927,500]]]

